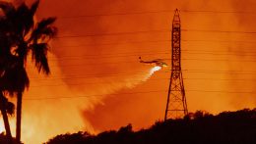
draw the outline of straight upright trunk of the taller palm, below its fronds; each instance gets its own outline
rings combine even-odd
[[[21,142],[21,129],[22,129],[22,98],[23,92],[18,92],[17,95],[17,120],[16,120],[16,141]]]

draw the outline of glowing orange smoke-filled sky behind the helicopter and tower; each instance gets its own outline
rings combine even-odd
[[[162,120],[170,68],[149,77],[152,66],[138,58],[170,65],[176,8],[189,112],[254,108],[254,0],[41,0],[36,19],[57,17],[59,33],[51,42],[51,75],[28,65],[23,141]]]

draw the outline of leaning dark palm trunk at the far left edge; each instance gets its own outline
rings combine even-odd
[[[9,124],[9,120],[6,113],[5,99],[2,92],[0,92],[0,109],[3,116],[4,124],[5,124],[5,131],[6,131],[6,136],[8,138],[8,143],[12,144],[12,133],[11,133],[10,124]]]

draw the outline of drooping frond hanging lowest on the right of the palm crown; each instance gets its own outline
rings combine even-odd
[[[45,74],[50,73],[48,59],[47,59],[47,51],[48,44],[47,43],[34,43],[31,46],[32,49],[32,61],[34,62],[34,66],[38,72],[43,72]]]

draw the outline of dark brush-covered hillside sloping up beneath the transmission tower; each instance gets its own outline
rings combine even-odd
[[[45,144],[256,144],[256,109],[223,112],[217,116],[198,111],[182,120],[158,121],[148,129],[132,125],[92,135],[57,135]]]

